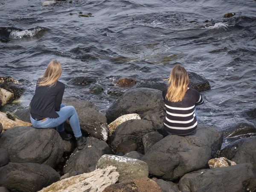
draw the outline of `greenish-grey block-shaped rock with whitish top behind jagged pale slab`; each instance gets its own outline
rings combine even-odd
[[[105,154],[100,157],[96,169],[105,169],[108,166],[117,168],[120,183],[148,177],[148,165],[141,160]]]

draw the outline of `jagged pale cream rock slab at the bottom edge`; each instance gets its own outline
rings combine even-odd
[[[102,192],[107,186],[116,183],[118,177],[116,168],[109,166],[60,180],[40,192]]]

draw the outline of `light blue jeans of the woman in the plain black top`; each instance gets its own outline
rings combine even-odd
[[[58,132],[64,131],[64,122],[69,119],[70,126],[74,132],[75,137],[81,137],[81,129],[79,125],[79,119],[76,113],[76,109],[73,106],[66,106],[65,104],[61,103],[61,109],[60,111],[56,111],[58,113],[59,117],[52,119],[52,118],[47,118],[43,122],[37,121],[33,119],[30,116],[30,120],[32,125],[35,128],[55,128],[57,129]]]

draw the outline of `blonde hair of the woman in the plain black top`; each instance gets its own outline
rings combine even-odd
[[[62,68],[61,63],[57,60],[52,60],[49,62],[44,75],[39,77],[39,79],[42,79],[38,82],[38,86],[55,86],[57,80],[61,76]]]

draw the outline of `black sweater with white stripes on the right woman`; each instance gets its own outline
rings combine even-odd
[[[164,128],[171,134],[189,134],[197,128],[195,106],[204,103],[201,94],[192,88],[186,91],[182,101],[169,102],[166,99],[167,90],[163,91],[163,101],[166,106]]]

